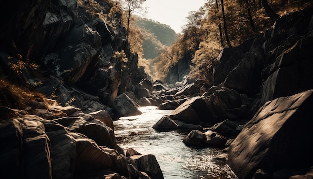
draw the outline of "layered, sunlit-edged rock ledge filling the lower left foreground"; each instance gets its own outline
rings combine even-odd
[[[57,105],[0,111],[1,178],[129,178],[133,170],[147,178],[163,178],[154,155],[133,151],[135,157],[125,157],[112,129],[92,117],[98,113]]]

